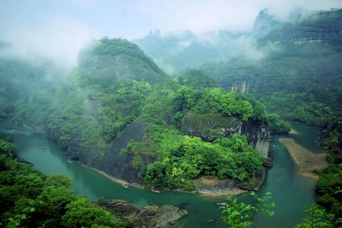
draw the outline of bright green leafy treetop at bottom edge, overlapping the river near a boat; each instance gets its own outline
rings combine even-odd
[[[270,217],[274,215],[271,210],[275,207],[275,203],[269,203],[272,199],[271,193],[267,192],[266,196],[259,198],[255,192],[251,192],[251,195],[257,200],[255,206],[246,204],[244,202],[237,202],[237,199],[233,199],[231,196],[227,197],[227,203],[221,206],[223,221],[228,224],[231,228],[245,228],[253,225],[251,221],[254,217],[254,213],[261,211],[268,214]]]

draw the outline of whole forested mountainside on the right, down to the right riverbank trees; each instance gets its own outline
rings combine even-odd
[[[316,12],[261,37],[257,45],[267,55],[260,61],[235,58],[200,67],[223,88],[257,97],[268,112],[277,113],[269,121],[300,121],[324,133],[319,144],[328,150],[329,164],[320,172],[316,192],[335,222],[342,216],[342,55],[335,30],[341,21],[342,10]],[[278,126],[272,131],[281,132]]]

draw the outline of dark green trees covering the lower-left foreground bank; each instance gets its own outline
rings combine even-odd
[[[11,137],[0,134],[0,226],[131,227],[127,221],[75,195],[65,174],[44,175],[16,158]]]

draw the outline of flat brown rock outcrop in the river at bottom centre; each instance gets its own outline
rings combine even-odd
[[[188,214],[173,205],[147,205],[142,210],[125,200],[99,200],[98,205],[124,219],[134,219],[138,227],[166,227]]]

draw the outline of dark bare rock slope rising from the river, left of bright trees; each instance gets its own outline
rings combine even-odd
[[[120,152],[130,140],[141,141],[146,126],[147,124],[140,119],[133,121],[108,148],[102,144],[91,149],[83,148],[80,133],[71,134],[71,139],[66,141],[61,139],[65,134],[61,129],[45,127],[45,132],[72,160],[133,183],[139,182],[140,179],[137,171],[130,165],[132,156],[129,153],[122,155]]]

